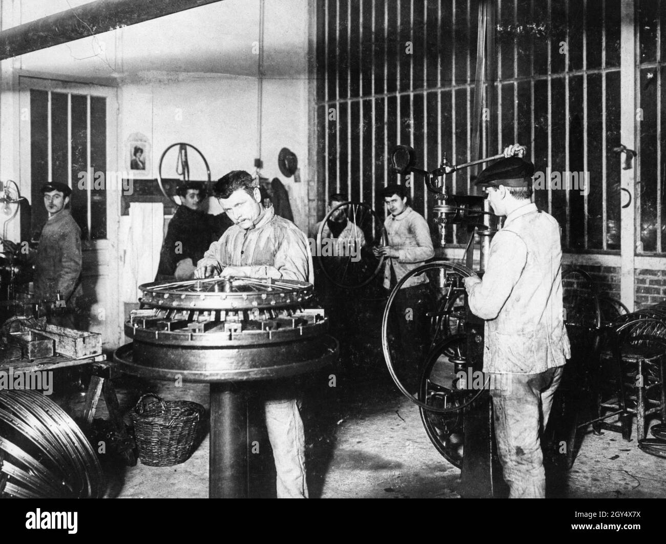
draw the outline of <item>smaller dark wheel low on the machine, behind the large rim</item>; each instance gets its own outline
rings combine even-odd
[[[477,392],[458,388],[456,368],[467,372],[467,336],[454,334],[445,338],[430,352],[426,360],[419,400],[433,408],[453,408],[449,413],[436,413],[419,408],[428,438],[444,458],[455,467],[462,467],[464,428],[463,415]],[[467,408],[466,408],[467,407]]]

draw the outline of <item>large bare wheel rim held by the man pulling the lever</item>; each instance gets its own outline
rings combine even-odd
[[[384,352],[384,362],[386,362],[386,367],[388,368],[388,372],[391,375],[391,378],[393,379],[394,383],[402,392],[404,396],[406,396],[410,401],[412,401],[414,404],[419,406],[420,408],[426,409],[428,411],[433,411],[435,413],[454,413],[456,411],[460,411],[467,406],[470,406],[480,394],[484,392],[484,388],[481,388],[478,392],[475,392],[473,396],[471,396],[469,399],[466,399],[465,402],[460,404],[460,406],[454,406],[454,407],[439,407],[439,406],[432,406],[427,404],[426,402],[414,397],[408,390],[402,385],[402,382],[400,382],[400,379],[396,375],[396,371],[394,369],[394,364],[393,364],[393,358],[391,355],[391,350],[388,342],[388,322],[389,322],[389,316],[390,316],[390,310],[391,306],[393,304],[394,299],[396,298],[396,294],[398,294],[398,290],[402,288],[402,286],[405,284],[407,280],[414,276],[420,276],[421,274],[424,274],[425,272],[428,272],[428,270],[441,270],[445,274],[444,278],[444,285],[448,286],[449,288],[449,294],[454,294],[457,296],[457,291],[456,287],[459,286],[460,284],[460,279],[462,278],[467,278],[468,276],[472,276],[474,272],[467,268],[466,266],[462,266],[462,264],[457,264],[455,262],[450,262],[450,261],[445,261],[445,260],[436,260],[429,262],[427,264],[422,264],[421,266],[418,266],[417,268],[414,268],[414,270],[410,270],[407,274],[405,274],[398,284],[393,288],[391,294],[388,296],[388,300],[386,301],[386,308],[384,309],[384,318],[382,319],[382,350]],[[454,285],[458,284],[458,285]]]

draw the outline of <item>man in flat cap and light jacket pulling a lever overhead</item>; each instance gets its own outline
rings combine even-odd
[[[465,279],[470,310],[486,320],[484,372],[498,374],[492,390],[495,433],[509,497],[545,497],[539,435],[571,356],[563,323],[560,228],[531,197],[534,165],[525,147],[505,148],[481,172],[478,186],[504,216],[490,244],[483,280]],[[508,376],[506,376],[508,375]]]

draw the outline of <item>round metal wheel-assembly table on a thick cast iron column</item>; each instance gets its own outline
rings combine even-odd
[[[318,370],[338,356],[311,284],[270,278],[151,283],[125,322],[123,372],[210,384],[210,497],[247,497],[252,384]]]

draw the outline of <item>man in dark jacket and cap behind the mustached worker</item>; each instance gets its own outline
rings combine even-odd
[[[176,193],[182,204],[169,221],[156,281],[192,278],[194,265],[204,256],[212,242],[211,231],[219,232],[219,236],[222,236],[224,230],[233,224],[226,218],[226,214],[212,216],[202,210],[206,188],[201,182],[187,182],[178,187]]]

